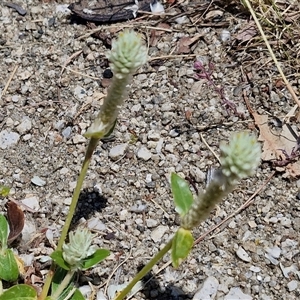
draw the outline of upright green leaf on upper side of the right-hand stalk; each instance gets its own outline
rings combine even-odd
[[[171,189],[175,210],[183,217],[193,204],[193,194],[188,183],[176,173],[171,174]]]

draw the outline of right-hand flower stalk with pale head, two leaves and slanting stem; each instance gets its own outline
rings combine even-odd
[[[114,300],[123,299],[168,251],[171,250],[173,266],[178,267],[192,249],[194,243],[192,229],[208,218],[215,205],[234,189],[239,180],[251,176],[260,162],[260,145],[254,136],[246,132],[233,134],[229,143],[222,143],[220,149],[221,168],[214,173],[206,190],[199,193],[195,199],[188,183],[172,173],[171,189],[175,209],[181,217],[181,226],[174,237]]]

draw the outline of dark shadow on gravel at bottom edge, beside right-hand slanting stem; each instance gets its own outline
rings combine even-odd
[[[143,265],[139,266],[137,271],[140,271],[143,267]],[[162,291],[159,279],[157,279],[152,272],[146,275],[142,281],[144,287],[141,293],[147,300],[188,300],[193,298],[192,295],[186,294],[180,287],[172,283],[169,283]],[[155,291],[155,293],[153,293],[153,291]]]

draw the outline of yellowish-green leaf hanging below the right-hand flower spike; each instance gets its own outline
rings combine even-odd
[[[189,255],[194,243],[194,238],[190,230],[179,228],[173,238],[171,259],[174,268]]]

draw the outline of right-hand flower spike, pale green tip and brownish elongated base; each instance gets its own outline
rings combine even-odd
[[[221,169],[217,170],[204,192],[199,193],[188,212],[181,219],[181,227],[192,230],[208,218],[238,180],[253,175],[260,162],[260,145],[246,132],[232,135],[228,144],[221,143]]]

